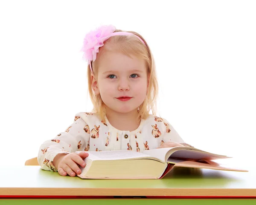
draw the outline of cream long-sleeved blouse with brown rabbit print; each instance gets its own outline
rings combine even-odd
[[[79,112],[66,131],[41,145],[38,162],[44,170],[57,171],[52,161],[59,153],[106,150],[143,151],[156,149],[163,142],[184,142],[172,125],[163,118],[149,115],[147,119],[141,120],[136,130],[121,131],[114,128],[106,117],[104,122],[95,113]]]

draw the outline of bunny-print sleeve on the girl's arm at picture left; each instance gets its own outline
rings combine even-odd
[[[72,125],[55,138],[45,141],[38,151],[38,163],[42,169],[57,171],[52,165],[53,159],[60,153],[83,151],[89,142],[88,125],[80,117],[75,117]]]

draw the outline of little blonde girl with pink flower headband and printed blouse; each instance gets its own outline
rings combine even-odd
[[[155,116],[158,85],[154,59],[143,37],[102,26],[84,38],[83,58],[92,112],[79,112],[73,124],[38,153],[41,168],[62,176],[81,174],[87,152],[143,151],[186,146],[170,123]],[[149,111],[152,111],[152,115]],[[189,146],[189,145],[187,145]]]

